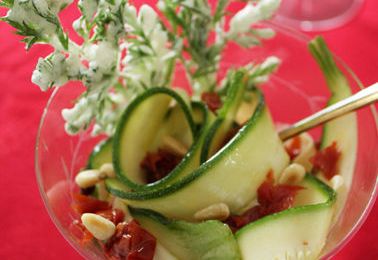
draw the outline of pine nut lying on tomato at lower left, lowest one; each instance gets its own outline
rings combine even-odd
[[[113,236],[115,225],[110,220],[93,213],[81,215],[81,221],[86,229],[98,240],[106,240]]]

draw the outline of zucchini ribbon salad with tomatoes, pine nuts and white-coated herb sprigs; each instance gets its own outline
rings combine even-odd
[[[226,48],[274,37],[263,22],[280,1],[233,12],[225,0],[160,0],[157,9],[81,0],[80,43],[59,21],[69,4],[1,2],[27,48],[54,47],[32,81],[85,86],[62,110],[67,134],[103,139],[75,177],[71,235],[108,259],[317,259],[352,182],[355,115],[326,123],[319,140],[281,140],[263,93],[280,60],[220,73]],[[309,51],[332,93],[327,104],[350,96],[324,40]],[[175,85],[177,73],[190,88]]]

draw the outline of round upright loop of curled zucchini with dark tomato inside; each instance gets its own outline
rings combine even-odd
[[[183,134],[187,129],[189,134]],[[185,101],[175,91],[151,88],[127,107],[117,126],[113,142],[117,178],[132,189],[145,188],[140,163],[148,151],[159,147],[164,135],[184,137],[183,142],[192,143],[194,121]]]

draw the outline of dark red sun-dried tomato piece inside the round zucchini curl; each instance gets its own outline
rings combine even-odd
[[[152,183],[167,176],[181,160],[180,155],[158,149],[157,152],[148,152],[140,163],[140,167],[146,173],[147,183]]]

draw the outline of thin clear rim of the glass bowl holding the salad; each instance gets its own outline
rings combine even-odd
[[[311,40],[311,37],[309,37],[308,35],[300,32],[300,31],[298,31],[297,29],[279,24],[279,23],[274,22],[274,21],[264,22],[263,25],[270,26],[273,29],[275,29],[276,31],[278,31],[278,32],[280,32],[284,35],[288,35],[291,38],[294,38],[294,39],[299,40],[299,41],[304,42],[304,43],[308,43]],[[351,79],[353,81],[355,81],[358,88],[359,89],[365,88],[364,85],[362,84],[362,82],[357,77],[357,75],[348,67],[348,65],[338,56],[334,55],[334,57],[337,60],[337,62],[346,70],[346,72],[349,74]],[[62,86],[62,87],[64,87],[64,86]],[[50,205],[49,199],[47,197],[47,194],[46,194],[46,192],[43,188],[44,183],[43,183],[43,179],[42,179],[42,176],[41,176],[42,175],[41,169],[39,167],[38,151],[39,151],[39,144],[40,144],[40,141],[41,141],[40,139],[41,139],[42,128],[44,126],[44,122],[45,122],[47,113],[49,111],[49,108],[50,108],[51,104],[53,103],[54,99],[56,98],[57,93],[59,92],[59,89],[60,89],[60,87],[57,87],[53,90],[51,96],[49,97],[49,99],[47,101],[46,106],[44,107],[44,110],[42,112],[41,119],[40,119],[40,122],[39,122],[37,136],[36,136],[36,142],[35,142],[35,148],[34,148],[34,152],[35,152],[35,156],[34,156],[35,174],[36,174],[36,179],[37,179],[38,190],[39,190],[40,196],[42,197],[43,204],[44,204],[44,206],[45,206],[45,208],[48,212],[50,219],[53,221],[53,223],[55,224],[55,226],[57,227],[57,229],[61,233],[61,235],[64,237],[64,239],[67,242],[69,242],[69,244],[76,250],[76,252],[78,252],[82,256],[85,256],[82,253],[81,247],[79,247],[77,245],[77,243],[75,241],[73,241],[73,239],[69,236],[69,233],[66,231],[65,228],[63,228],[63,226],[60,224],[59,220],[55,216],[53,209]],[[373,121],[375,123],[375,133],[378,135],[378,112],[377,112],[377,109],[375,108],[374,104],[369,105],[368,107],[369,107],[371,116],[373,117]],[[328,259],[328,258],[334,256],[335,254],[337,254],[353,238],[353,236],[359,231],[359,229],[361,228],[361,226],[363,225],[363,223],[367,219],[370,211],[373,208],[374,202],[375,202],[377,197],[378,197],[378,172],[376,173],[376,181],[375,181],[374,189],[373,189],[372,193],[370,194],[369,201],[367,202],[362,214],[360,215],[358,220],[354,223],[353,227],[349,230],[347,235],[342,240],[340,240],[330,252],[323,254],[321,256],[322,259]]]

